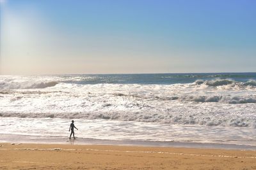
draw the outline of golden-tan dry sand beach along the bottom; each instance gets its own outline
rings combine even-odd
[[[0,169],[256,169],[256,152],[248,150],[0,145]]]

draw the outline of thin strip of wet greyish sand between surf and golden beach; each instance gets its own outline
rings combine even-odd
[[[253,145],[237,145],[228,143],[202,143],[195,141],[136,141],[136,140],[110,140],[58,136],[27,136],[16,134],[1,134],[0,143],[29,143],[38,145],[112,145],[112,146],[141,146],[141,147],[172,147],[172,148],[198,148],[198,149],[224,149],[224,150],[251,150],[256,151]]]

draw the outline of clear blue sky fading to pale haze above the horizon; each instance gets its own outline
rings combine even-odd
[[[0,74],[256,71],[254,0],[0,3]]]

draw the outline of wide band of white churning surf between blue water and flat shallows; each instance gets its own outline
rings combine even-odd
[[[0,117],[255,128],[255,80],[195,80],[170,85],[83,84],[77,80],[77,76],[1,77]]]

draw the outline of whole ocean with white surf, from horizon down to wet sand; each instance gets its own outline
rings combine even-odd
[[[0,76],[1,142],[256,146],[256,73]]]

